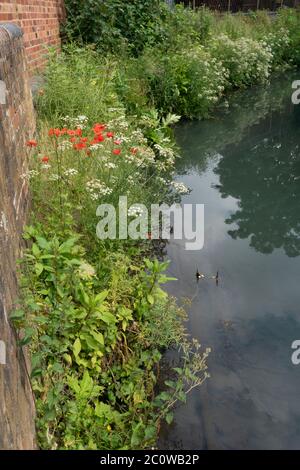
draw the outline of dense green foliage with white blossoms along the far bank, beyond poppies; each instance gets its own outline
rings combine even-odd
[[[71,0],[70,9],[79,3]],[[157,1],[91,3],[99,9],[105,3],[111,14],[100,19],[88,6],[85,13],[77,8],[80,13],[66,25],[68,37],[93,43],[100,56],[117,54],[117,92],[132,114],[154,107],[162,115],[205,117],[224,90],[265,83],[272,71],[299,64],[298,10],[285,8],[274,18],[263,11],[220,15],[206,8],[170,9]],[[95,21],[106,25],[96,28],[97,38],[85,33]]]

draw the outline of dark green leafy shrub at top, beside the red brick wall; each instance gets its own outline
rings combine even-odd
[[[128,45],[134,54],[158,40],[165,5],[159,0],[66,0],[68,39],[92,43],[102,51]]]

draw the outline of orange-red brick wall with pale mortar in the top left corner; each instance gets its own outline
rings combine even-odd
[[[0,0],[0,22],[14,22],[24,31],[24,45],[31,74],[45,64],[46,46],[59,47],[63,0]]]

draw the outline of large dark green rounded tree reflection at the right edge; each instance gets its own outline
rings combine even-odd
[[[254,126],[238,146],[228,146],[215,173],[222,197],[238,199],[226,223],[232,238],[250,237],[261,253],[283,248],[300,254],[300,105]]]

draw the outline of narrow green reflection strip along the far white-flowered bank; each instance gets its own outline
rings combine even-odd
[[[205,171],[214,155],[229,145],[237,145],[252,126],[284,108],[290,102],[293,78],[283,76],[269,87],[237,91],[230,96],[229,108],[220,105],[213,119],[180,124],[176,135],[183,158],[178,160],[178,173]]]

